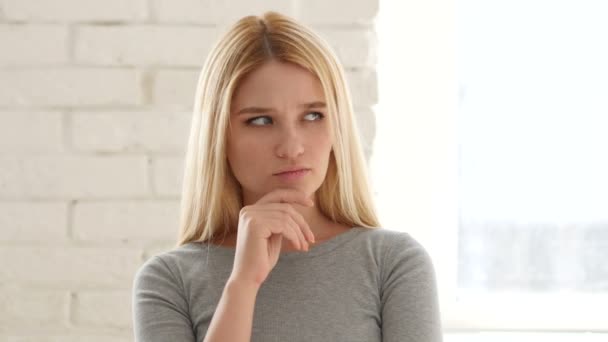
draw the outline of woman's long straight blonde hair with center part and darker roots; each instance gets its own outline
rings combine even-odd
[[[209,241],[238,225],[242,194],[226,158],[230,103],[239,81],[269,60],[299,65],[323,87],[334,145],[316,206],[337,223],[379,226],[338,59],[308,28],[282,14],[266,12],[261,17],[244,17],[230,27],[200,73],[185,158],[178,246]]]

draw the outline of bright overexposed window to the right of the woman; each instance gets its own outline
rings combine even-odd
[[[381,1],[374,189],[433,256],[447,331],[608,330],[607,17]]]

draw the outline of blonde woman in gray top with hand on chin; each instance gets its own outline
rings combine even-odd
[[[429,255],[379,228],[344,73],[275,12],[203,67],[178,245],[133,284],[136,341],[440,341]]]

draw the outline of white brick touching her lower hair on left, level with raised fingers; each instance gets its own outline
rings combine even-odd
[[[178,220],[178,200],[83,202],[74,206],[72,229],[85,241],[169,240]]]

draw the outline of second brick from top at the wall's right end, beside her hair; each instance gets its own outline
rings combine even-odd
[[[345,68],[370,67],[376,64],[376,37],[368,29],[319,29]]]

